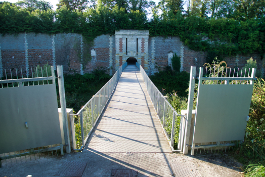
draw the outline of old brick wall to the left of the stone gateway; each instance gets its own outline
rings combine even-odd
[[[96,56],[87,62],[83,67],[84,73],[91,72],[97,67],[109,68],[109,37],[110,35],[101,35],[95,38],[94,46],[88,47],[83,43],[83,60],[86,53],[91,53],[91,50],[96,51]],[[112,44],[112,51],[115,51],[115,37]],[[21,33],[17,36],[5,35],[0,36],[1,46],[1,62],[3,69],[22,68],[26,73],[26,50],[28,58],[28,68],[43,66],[47,62],[53,65],[63,65],[65,73],[73,74],[80,73],[80,53],[81,53],[81,35],[79,34],[34,34]],[[53,43],[54,42],[54,43]],[[27,44],[25,47],[25,43]],[[54,47],[54,48],[53,48]],[[55,54],[55,60],[53,55]],[[115,60],[115,52],[111,54]],[[54,60],[54,61],[53,61]]]

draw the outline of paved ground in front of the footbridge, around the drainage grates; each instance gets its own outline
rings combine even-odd
[[[22,157],[2,161],[0,176],[33,177],[57,176],[56,173],[66,161],[85,161],[87,165],[83,172],[84,176],[111,177],[112,169],[134,169],[139,176],[173,176],[170,163],[181,163],[187,166],[187,171],[197,172],[197,176],[241,176],[240,164],[228,155],[208,154],[198,156],[185,156],[179,153],[98,153],[98,152],[75,152],[64,156],[44,156],[31,161],[27,156],[27,162]],[[188,168],[192,167],[192,168]],[[185,170],[185,169],[184,169]],[[176,176],[181,176],[181,173]],[[184,175],[185,176],[185,175]],[[186,175],[188,176],[188,175]]]

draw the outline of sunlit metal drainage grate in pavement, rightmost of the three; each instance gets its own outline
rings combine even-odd
[[[175,177],[198,177],[201,176],[196,167],[191,162],[173,162],[170,163]]]

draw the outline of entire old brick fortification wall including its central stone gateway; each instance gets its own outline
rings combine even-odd
[[[179,37],[149,36],[148,30],[119,30],[98,36],[91,44],[87,45],[82,35],[75,33],[6,34],[0,36],[0,74],[3,76],[3,69],[15,68],[26,73],[29,68],[48,62],[53,66],[63,65],[67,74],[84,74],[99,67],[112,75],[129,58],[135,58],[152,75],[171,66],[174,54],[181,57],[181,71],[190,72],[190,66],[203,66],[207,56],[206,52],[190,50]],[[242,68],[250,57],[264,74],[265,60],[260,54],[230,56],[224,60],[228,67]]]

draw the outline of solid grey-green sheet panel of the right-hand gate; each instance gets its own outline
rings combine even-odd
[[[244,140],[253,84],[200,84],[193,143]]]

